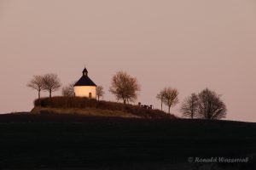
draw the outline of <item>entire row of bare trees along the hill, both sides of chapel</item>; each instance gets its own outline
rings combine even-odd
[[[66,87],[62,88],[63,96],[74,96],[73,85],[75,82],[70,83]],[[55,74],[46,74],[44,76],[34,76],[27,84],[28,87],[38,90],[38,98],[40,98],[40,92],[42,90],[49,92],[51,97],[52,92],[55,92],[61,88],[60,79]],[[137,100],[138,92],[141,90],[141,86],[137,82],[136,77],[131,77],[124,71],[117,72],[111,82],[109,92],[115,95],[117,100],[123,100],[124,104],[135,102]],[[96,97],[100,100],[104,95],[103,87],[96,87]],[[183,100],[180,111],[184,117],[193,118],[205,118],[205,119],[221,119],[226,116],[226,105],[220,95],[208,88],[201,91],[199,94],[191,94],[189,97]],[[176,88],[164,88],[156,95],[156,98],[160,100],[161,111],[163,104],[168,107],[168,112],[173,106],[178,104],[178,91]]]

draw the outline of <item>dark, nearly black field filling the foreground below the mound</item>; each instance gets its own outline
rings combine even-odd
[[[189,156],[248,156],[207,165],[256,169],[256,123],[8,114],[0,148],[0,168],[200,169]]]

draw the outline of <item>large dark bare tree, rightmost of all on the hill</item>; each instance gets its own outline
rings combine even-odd
[[[216,94],[208,88],[198,94],[198,116],[204,119],[221,119],[226,116],[226,105]]]

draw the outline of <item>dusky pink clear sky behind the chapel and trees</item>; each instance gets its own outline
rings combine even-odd
[[[256,122],[255,44],[254,0],[0,0],[0,113],[32,110],[33,75],[56,73],[65,86],[86,65],[105,100],[115,101],[111,78],[126,71],[142,104],[160,108],[165,87],[180,104],[210,88],[226,119]]]

